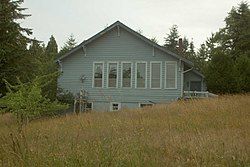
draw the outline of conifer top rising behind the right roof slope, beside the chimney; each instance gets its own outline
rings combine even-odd
[[[172,51],[176,51],[178,46],[178,40],[179,40],[179,32],[178,32],[178,26],[173,25],[170,28],[169,34],[167,34],[167,37],[165,39],[164,46]]]

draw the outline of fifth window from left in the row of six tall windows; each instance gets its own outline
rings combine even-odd
[[[150,88],[161,88],[161,62],[150,63]]]

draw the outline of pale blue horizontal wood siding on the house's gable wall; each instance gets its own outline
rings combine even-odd
[[[93,41],[87,48],[87,56],[83,50],[62,60],[63,73],[58,80],[61,88],[78,93],[80,89],[88,92],[89,99],[94,102],[146,102],[156,103],[175,100],[181,95],[181,73],[177,72],[177,89],[164,89],[165,86],[165,61],[178,61],[166,53],[154,49],[149,44],[143,42],[138,37],[120,28],[120,36],[117,31],[104,34],[99,39]],[[92,88],[93,62],[104,62],[104,88]],[[118,88],[107,88],[107,62],[118,61]],[[121,62],[131,61],[133,64],[132,88],[121,88]],[[135,62],[147,62],[147,89],[135,88]],[[150,89],[150,61],[162,61],[162,88]],[[178,64],[178,63],[177,63]],[[179,69],[179,67],[178,67]],[[80,82],[80,77],[86,76],[84,83]]]

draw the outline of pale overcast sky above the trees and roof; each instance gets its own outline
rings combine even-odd
[[[199,47],[212,32],[225,25],[224,19],[240,0],[24,0],[25,13],[32,16],[22,25],[33,29],[32,37],[47,44],[54,35],[59,48],[72,33],[77,42],[95,35],[119,20],[163,44],[169,28],[193,39]]]

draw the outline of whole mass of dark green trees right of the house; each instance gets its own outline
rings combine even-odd
[[[208,89],[212,92],[250,91],[250,9],[246,2],[233,7],[221,28],[201,48],[200,56],[208,59],[205,68]],[[201,64],[202,65],[202,64]]]

